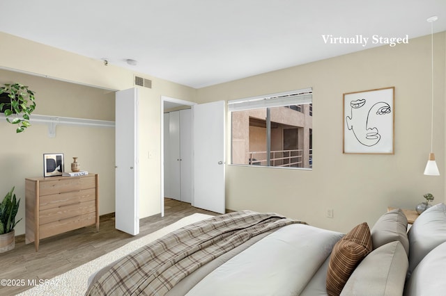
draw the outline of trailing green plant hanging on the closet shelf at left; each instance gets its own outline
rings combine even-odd
[[[0,110],[5,113],[10,124],[18,124],[16,132],[21,133],[29,124],[29,115],[36,108],[34,92],[20,83],[5,84],[0,88],[0,95],[7,94],[8,99],[0,103]]]

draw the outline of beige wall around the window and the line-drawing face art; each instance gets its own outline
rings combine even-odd
[[[426,192],[444,202],[445,35],[435,35],[434,49],[433,150],[441,176],[423,175],[430,151],[430,36],[199,89],[200,103],[314,92],[313,170],[227,165],[226,208],[275,211],[345,232],[364,221],[372,226],[387,206],[414,208]],[[395,154],[342,154],[343,93],[389,86],[395,87]],[[325,217],[329,208],[334,218]]]

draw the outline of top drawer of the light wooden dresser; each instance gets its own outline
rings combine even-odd
[[[54,195],[89,188],[95,188],[95,176],[66,177],[39,182],[39,195],[42,197],[43,195]]]

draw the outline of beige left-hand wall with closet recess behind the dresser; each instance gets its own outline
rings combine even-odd
[[[36,114],[114,120],[112,90],[132,88],[134,74],[152,80],[152,89],[141,88],[139,105],[139,215],[160,213],[161,96],[194,101],[196,90],[1,32],[0,43],[0,67],[14,70],[2,70],[0,83],[18,81],[36,90]],[[12,126],[0,122],[0,135],[0,192],[16,186],[17,197],[22,197],[17,219],[24,217],[24,178],[41,176],[42,154],[52,152],[65,154],[66,169],[70,158],[78,156],[83,169],[100,174],[100,214],[114,211],[113,128],[57,126],[56,138],[48,138],[45,125],[35,124],[17,135]],[[16,227],[16,234],[22,233],[24,220]]]

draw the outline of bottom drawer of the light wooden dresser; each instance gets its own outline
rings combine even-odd
[[[48,238],[59,233],[95,224],[95,213],[88,213],[40,225],[39,238]]]

